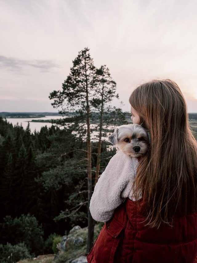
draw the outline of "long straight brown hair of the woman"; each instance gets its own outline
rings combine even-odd
[[[197,142],[186,102],[169,79],[140,85],[129,102],[151,136],[148,153],[139,162],[134,197],[138,200],[143,193],[147,225],[172,225],[174,216],[197,211]]]

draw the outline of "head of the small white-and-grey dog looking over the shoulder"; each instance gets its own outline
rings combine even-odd
[[[147,131],[139,124],[121,125],[108,136],[108,141],[131,157],[146,153],[150,142]]]

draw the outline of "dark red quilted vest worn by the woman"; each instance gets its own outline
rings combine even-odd
[[[197,213],[176,217],[174,226],[145,226],[139,206],[129,198],[115,209],[87,256],[88,263],[196,263]]]

